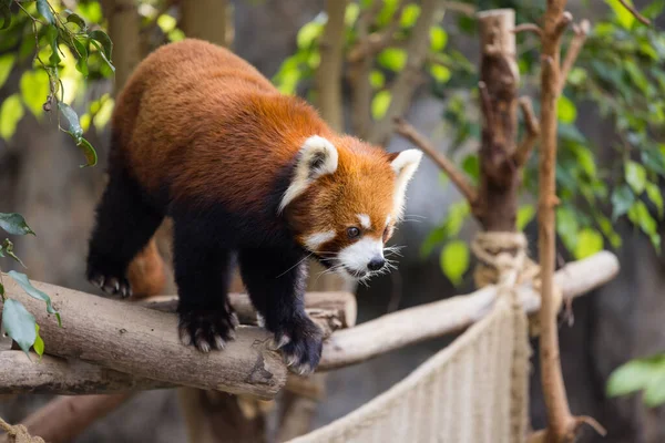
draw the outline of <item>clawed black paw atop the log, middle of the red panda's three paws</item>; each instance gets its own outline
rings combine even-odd
[[[235,338],[238,318],[226,310],[192,310],[180,313],[180,339],[185,346],[193,344],[202,352],[224,349]]]

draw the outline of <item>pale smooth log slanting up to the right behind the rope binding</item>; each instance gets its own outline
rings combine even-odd
[[[563,298],[570,299],[610,281],[617,272],[616,257],[601,251],[566,265],[556,272],[555,282]],[[526,312],[540,309],[540,296],[532,285],[523,285],[518,291]],[[488,286],[467,296],[403,309],[338,331],[324,347],[319,371],[360,363],[409,344],[459,332],[488,315],[495,299],[497,288]]]

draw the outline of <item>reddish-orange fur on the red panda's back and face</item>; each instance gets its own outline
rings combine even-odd
[[[366,235],[380,238],[393,210],[391,155],[336,134],[305,101],[280,94],[247,62],[203,41],[168,44],[146,58],[119,96],[113,126],[124,137],[117,155],[146,189],[166,185],[174,199],[219,202],[241,213],[264,204],[305,140],[326,137],[338,150],[338,171],[286,210],[300,241],[358,226],[357,214],[370,216]],[[338,238],[336,248],[346,237]]]

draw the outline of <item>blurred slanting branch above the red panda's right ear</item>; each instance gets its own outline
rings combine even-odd
[[[416,89],[420,84],[422,64],[429,49],[430,28],[441,19],[443,10],[441,0],[422,0],[420,16],[407,42],[407,63],[390,87],[390,105],[383,119],[375,124],[369,137],[370,142],[386,144],[392,133],[392,121],[401,116],[411,104]]]

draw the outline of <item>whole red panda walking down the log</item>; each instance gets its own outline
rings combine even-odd
[[[304,311],[305,259],[357,279],[382,271],[421,159],[335,133],[305,101],[198,40],[164,45],[136,68],[111,144],[88,279],[131,295],[127,266],[170,216],[183,342],[207,352],[233,339],[226,291],[237,261],[265,328],[300,373],[321,352]]]

